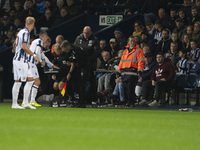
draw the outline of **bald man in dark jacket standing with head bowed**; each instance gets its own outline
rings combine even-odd
[[[91,27],[85,26],[83,33],[77,36],[74,45],[80,47],[85,53],[85,66],[82,68],[82,96],[81,99],[86,102],[86,94],[91,94],[88,98],[91,102],[96,101],[96,76],[94,71],[96,70],[96,59],[98,57],[99,40],[94,36]],[[90,84],[90,91],[86,91],[86,82]]]

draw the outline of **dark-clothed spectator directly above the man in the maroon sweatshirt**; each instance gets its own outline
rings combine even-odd
[[[170,42],[169,31],[166,29],[162,30],[162,40],[158,43],[156,48],[157,53],[166,53],[170,49]]]

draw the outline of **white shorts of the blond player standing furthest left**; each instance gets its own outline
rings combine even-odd
[[[27,77],[32,77],[28,63],[23,61],[13,60],[13,72],[14,80],[21,80],[21,82],[26,82]]]

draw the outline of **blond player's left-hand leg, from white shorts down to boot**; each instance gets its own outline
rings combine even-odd
[[[20,81],[22,65],[18,61],[13,60],[13,71],[14,71],[15,82],[12,87],[12,108],[23,109],[23,107],[19,106],[17,103],[18,96],[19,96],[19,89],[22,84],[22,82]]]

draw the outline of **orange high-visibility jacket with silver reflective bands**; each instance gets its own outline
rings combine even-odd
[[[144,70],[144,53],[138,44],[135,45],[133,50],[129,52],[129,45],[126,46],[126,50],[123,52],[122,58],[119,63],[117,70],[125,68],[135,68],[138,71]]]

